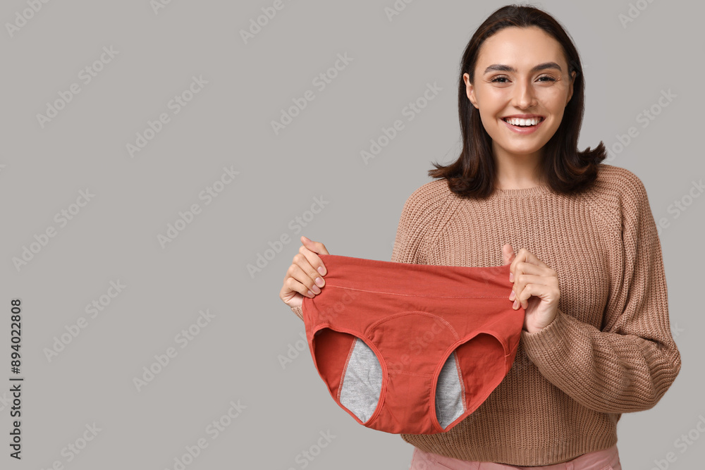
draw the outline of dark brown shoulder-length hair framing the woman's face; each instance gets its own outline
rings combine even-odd
[[[460,197],[489,196],[494,191],[495,163],[492,157],[492,140],[480,120],[479,110],[467,98],[463,73],[470,75],[474,83],[474,70],[480,47],[485,39],[505,27],[540,27],[563,47],[568,62],[568,75],[576,71],[573,94],[565,106],[563,120],[556,133],[544,146],[541,162],[546,183],[556,192],[570,194],[580,192],[591,185],[597,177],[597,167],[606,158],[602,142],[591,150],[577,150],[582,116],[584,113],[584,79],[580,56],[563,27],[548,13],[533,6],[508,5],[492,13],[474,32],[465,47],[460,62],[458,83],[458,115],[462,132],[462,151],[458,160],[447,166],[432,163],[429,170],[433,178],[446,178],[448,188]]]

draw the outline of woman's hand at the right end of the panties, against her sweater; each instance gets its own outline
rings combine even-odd
[[[509,299],[514,300],[514,309],[520,304],[524,307],[524,329],[536,333],[558,314],[558,275],[527,249],[522,248],[515,254],[512,245],[507,243],[502,252],[504,264],[511,264],[509,280],[514,283]]]

